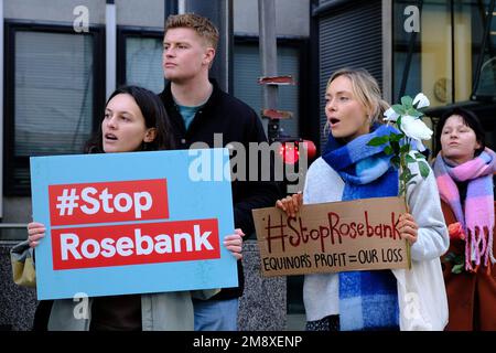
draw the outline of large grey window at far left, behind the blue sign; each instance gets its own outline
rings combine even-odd
[[[28,194],[29,157],[80,153],[91,133],[95,39],[20,29],[12,35],[6,194]]]

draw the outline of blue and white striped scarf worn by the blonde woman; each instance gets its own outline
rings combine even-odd
[[[399,175],[384,146],[370,147],[375,137],[399,133],[386,125],[343,145],[330,135],[322,158],[345,182],[343,201],[397,196]],[[342,331],[398,330],[396,278],[390,270],[339,272],[339,325]]]

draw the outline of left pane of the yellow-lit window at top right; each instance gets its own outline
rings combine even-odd
[[[452,100],[449,92],[452,86],[452,54],[448,2],[423,1],[422,7],[418,7],[408,1],[395,1],[393,101],[419,92],[430,98],[431,106]]]

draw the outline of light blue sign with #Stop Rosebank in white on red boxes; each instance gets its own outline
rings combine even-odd
[[[31,158],[39,299],[236,287],[227,149]],[[218,175],[217,175],[218,176]],[[229,176],[229,175],[228,175]]]

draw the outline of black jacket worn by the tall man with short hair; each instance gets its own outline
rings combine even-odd
[[[222,133],[223,147],[229,142],[242,143],[247,152],[246,160],[249,161],[249,142],[267,142],[261,121],[248,105],[223,92],[214,79],[211,82],[214,90],[207,103],[196,113],[187,130],[172,98],[171,84],[159,95],[171,119],[176,148],[187,149],[194,142],[205,142],[213,148],[214,133]],[[260,171],[260,168],[258,170]],[[249,180],[248,162],[246,176],[246,180]],[[241,228],[247,237],[255,232],[251,210],[273,206],[281,194],[277,183],[270,181],[235,180],[231,186],[235,227]],[[242,295],[241,261],[238,261],[238,288],[223,289],[212,299],[228,299]]]

